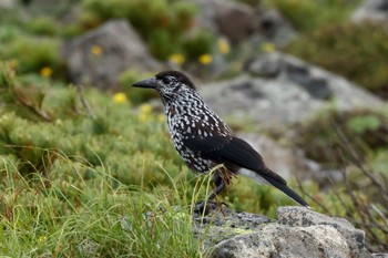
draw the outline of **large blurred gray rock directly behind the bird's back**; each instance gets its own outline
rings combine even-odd
[[[248,118],[265,126],[305,121],[324,109],[349,111],[382,105],[382,101],[344,78],[283,53],[251,60],[249,74],[200,87],[222,116]]]

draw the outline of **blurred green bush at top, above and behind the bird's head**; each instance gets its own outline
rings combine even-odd
[[[131,21],[149,43],[153,55],[159,59],[166,60],[172,54],[181,53],[193,61],[212,50],[214,40],[208,40],[210,32],[194,32],[186,38],[197,12],[197,7],[192,2],[84,0],[83,7],[86,13],[90,12],[90,17],[94,17],[96,23],[112,18]],[[193,43],[198,45],[192,48]]]

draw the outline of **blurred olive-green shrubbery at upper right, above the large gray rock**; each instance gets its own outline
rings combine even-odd
[[[388,32],[379,24],[350,23],[359,1],[275,0],[276,7],[304,32],[283,50],[387,97]]]

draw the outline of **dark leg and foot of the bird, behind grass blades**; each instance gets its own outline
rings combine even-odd
[[[202,200],[200,203],[196,203],[194,206],[195,213],[204,213],[207,215],[211,210],[215,210],[219,208],[219,205],[216,202],[213,202],[213,199],[225,188],[225,182],[222,176],[222,173],[217,171],[213,178],[212,178],[215,188],[213,192],[208,195],[207,200]]]

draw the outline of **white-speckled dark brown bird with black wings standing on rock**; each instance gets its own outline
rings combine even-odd
[[[214,189],[206,200],[195,204],[194,211],[215,209],[213,199],[237,175],[257,183],[269,184],[297,204],[308,204],[287,182],[269,169],[263,157],[204,102],[195,84],[180,71],[169,70],[132,84],[134,87],[155,90],[163,103],[167,127],[175,149],[195,174],[212,171]]]

